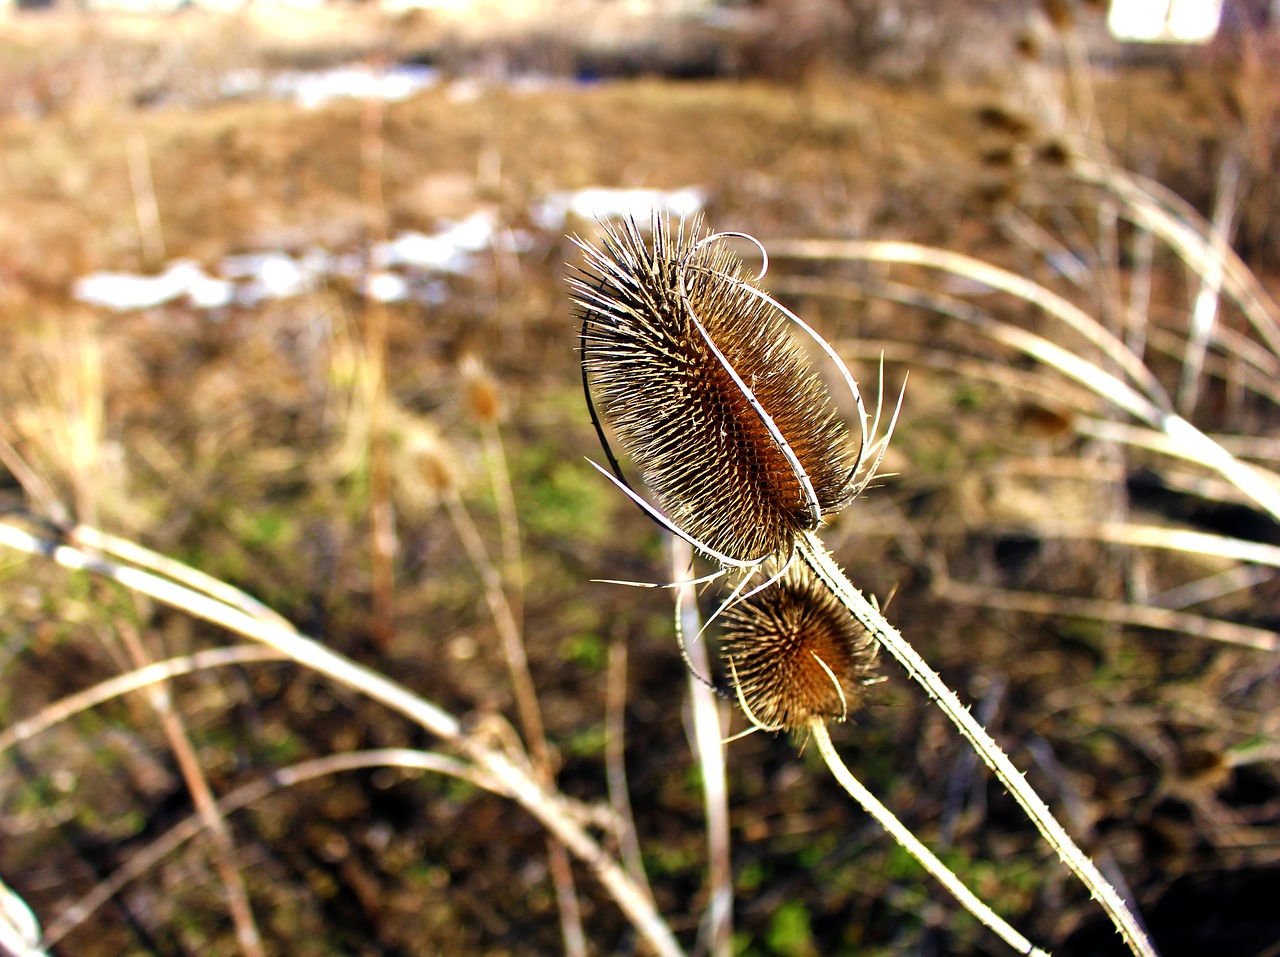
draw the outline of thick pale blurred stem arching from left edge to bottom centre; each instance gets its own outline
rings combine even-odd
[[[566,807],[563,798],[536,780],[526,770],[524,761],[513,760],[494,747],[465,736],[458,719],[448,711],[384,674],[357,664],[292,628],[280,628],[248,615],[239,608],[179,582],[32,535],[10,522],[0,522],[0,545],[42,555],[64,568],[101,574],[196,618],[260,641],[297,664],[311,668],[342,687],[358,691],[425,731],[449,741],[481,773],[498,782],[499,793],[509,796],[527,810],[556,839],[593,870],[607,893],[655,953],[660,957],[682,957],[684,951],[658,913],[653,898],[636,887],[617,861],[586,833],[577,820],[577,814]]]

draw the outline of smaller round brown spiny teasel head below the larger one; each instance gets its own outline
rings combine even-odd
[[[721,654],[763,727],[844,720],[876,681],[877,645],[805,566],[724,610]]]

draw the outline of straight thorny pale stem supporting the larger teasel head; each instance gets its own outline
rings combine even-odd
[[[943,714],[956,725],[960,734],[973,746],[983,763],[991,768],[1000,783],[1009,789],[1009,793],[1014,796],[1014,800],[1018,801],[1032,819],[1032,823],[1036,824],[1050,847],[1057,852],[1062,862],[1089,889],[1089,893],[1098,899],[1121,937],[1124,937],[1129,949],[1139,954],[1139,957],[1156,957],[1156,951],[1151,945],[1151,942],[1116,889],[1102,876],[1084,852],[1075,846],[1075,842],[1071,841],[1062,825],[1057,823],[1057,819],[1053,818],[1044,802],[1032,789],[1030,784],[1027,783],[1023,773],[1014,766],[986,729],[974,720],[973,715],[969,714],[969,709],[960,702],[960,699],[947,687],[941,676],[899,635],[897,629],[884,619],[879,609],[850,583],[844,569],[813,532],[805,534],[800,540],[797,550],[800,559],[831,589],[832,595],[872,632],[882,647],[899,660],[911,679],[919,683],[929,697],[937,701]]]

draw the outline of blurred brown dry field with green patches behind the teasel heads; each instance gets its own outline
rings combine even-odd
[[[887,390],[906,380],[883,475],[828,545],[1161,953],[1277,953],[1280,81],[1265,55],[1071,74],[1010,54],[982,83],[522,83],[444,64],[404,100],[303,109],[220,82],[351,52],[378,68],[436,49],[439,24],[285,46],[239,22],[38,23],[0,27],[0,523],[137,568],[101,530],[198,569],[465,738],[253,651],[54,714],[247,638],[6,548],[0,880],[49,953],[252,953],[244,911],[259,953],[562,952],[541,824],[483,775],[366,754],[466,764],[481,746],[545,759],[609,855],[632,833],[611,803],[625,768],[653,902],[694,952],[726,878],[707,864],[671,595],[594,581],[671,571],[657,526],[586,462],[600,453],[564,233],[593,224],[548,201],[593,187],[696,188],[714,229],[771,249],[764,284],[865,390],[882,357]],[[416,267],[401,301],[361,294],[379,243],[480,214],[493,239],[465,269]],[[1206,242],[1215,219],[1239,258]],[[1060,298],[1034,304],[924,246]],[[73,294],[100,270],[215,275],[228,256],[314,249],[355,265],[215,308]],[[938,709],[882,670],[833,727],[854,771],[1039,945],[1124,952]],[[727,748],[733,952],[1006,952],[801,743]],[[589,952],[646,952],[612,890],[571,867]]]

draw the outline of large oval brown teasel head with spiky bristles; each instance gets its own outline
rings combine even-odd
[[[652,246],[632,220],[605,226],[599,249],[581,244],[584,377],[671,522],[740,562],[790,554],[815,526],[809,498],[690,310],[786,438],[822,514],[847,500],[849,432],[786,321],[742,288],[737,257],[698,238],[696,223],[673,232],[655,217]]]

